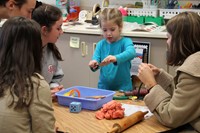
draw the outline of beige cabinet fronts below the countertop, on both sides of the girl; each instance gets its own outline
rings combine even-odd
[[[69,45],[70,37],[80,38],[80,48]],[[133,41],[150,42],[150,63],[168,70],[166,65],[166,39],[130,37]],[[56,43],[64,61],[61,67],[65,73],[62,84],[65,88],[71,86],[97,87],[99,71],[92,72],[88,66],[93,55],[94,43],[102,39],[101,35],[64,33]],[[85,56],[82,56],[81,43],[85,42]]]

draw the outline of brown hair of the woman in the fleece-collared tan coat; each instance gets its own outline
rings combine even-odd
[[[191,54],[200,51],[200,16],[194,12],[183,12],[166,25],[172,36],[167,63],[171,66],[183,64]]]

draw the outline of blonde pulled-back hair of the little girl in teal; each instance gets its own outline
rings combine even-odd
[[[99,22],[101,27],[102,21],[113,21],[119,27],[122,27],[122,14],[117,8],[105,8],[99,15]]]

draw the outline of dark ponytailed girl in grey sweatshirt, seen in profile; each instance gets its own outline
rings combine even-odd
[[[32,14],[32,19],[41,26],[43,60],[42,75],[50,85],[52,96],[56,91],[63,88],[60,84],[64,73],[60,67],[59,61],[62,61],[61,54],[55,43],[62,31],[62,12],[59,8],[42,4],[37,7]]]

